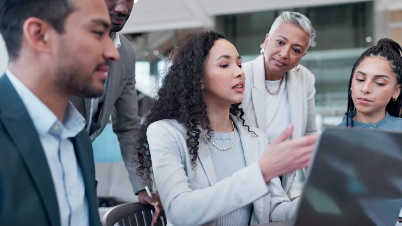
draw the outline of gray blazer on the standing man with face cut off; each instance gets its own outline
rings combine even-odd
[[[120,60],[111,63],[108,84],[105,90],[105,102],[100,111],[94,131],[90,134],[91,141],[105,129],[112,115],[113,131],[120,143],[121,156],[129,174],[133,190],[137,193],[144,190],[150,181],[139,180],[136,175],[138,162],[131,155],[140,127],[138,116],[137,91],[135,90],[135,51],[133,45],[121,34],[121,46],[118,49]],[[90,117],[91,98],[72,97],[72,103],[86,118]]]

